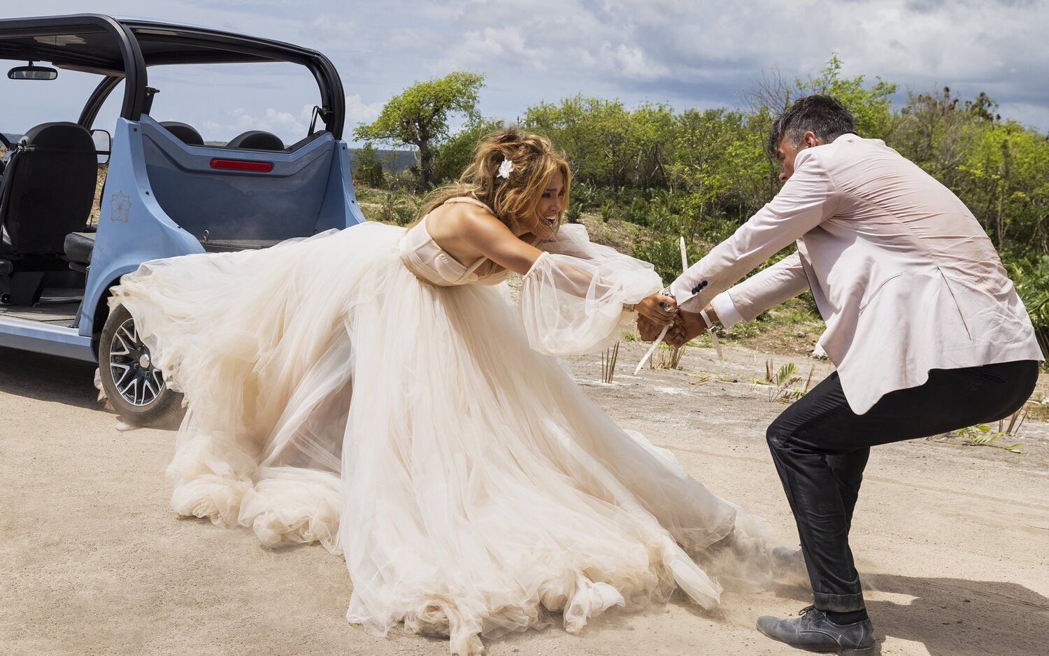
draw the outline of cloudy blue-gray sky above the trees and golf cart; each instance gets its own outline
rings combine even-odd
[[[3,9],[151,18],[319,49],[342,76],[347,134],[413,81],[457,68],[487,76],[483,113],[513,120],[579,91],[628,106],[742,106],[763,73],[816,75],[832,52],[847,76],[900,84],[900,100],[908,88],[986,91],[1003,117],[1049,131],[1049,0],[4,0]],[[150,71],[155,118],[191,123],[208,140],[305,134],[317,92],[304,69],[187,68]],[[0,79],[0,129],[76,120],[90,78]],[[114,117],[108,108],[95,127]]]

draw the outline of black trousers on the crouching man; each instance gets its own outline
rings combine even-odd
[[[835,372],[772,422],[769,448],[797,522],[817,609],[863,608],[849,528],[870,447],[1008,417],[1030,397],[1037,377],[1033,360],[933,369],[925,384],[892,392],[856,415]]]

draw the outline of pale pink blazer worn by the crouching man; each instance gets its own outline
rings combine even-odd
[[[795,240],[796,253],[729,289]],[[933,368],[1043,359],[972,213],[879,140],[842,134],[800,151],[776,197],[671,285],[691,312],[725,292],[715,308],[727,323],[810,289],[858,415]]]

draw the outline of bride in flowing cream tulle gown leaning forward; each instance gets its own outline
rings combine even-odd
[[[711,607],[718,563],[761,584],[756,523],[553,357],[615,341],[631,311],[669,317],[650,264],[558,226],[569,179],[550,142],[509,128],[407,230],[124,276],[111,303],[189,404],[175,510],[343,553],[351,622],[448,635],[453,654],[548,611],[574,632],[675,589]]]

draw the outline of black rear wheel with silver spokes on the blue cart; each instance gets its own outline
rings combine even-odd
[[[124,421],[151,428],[177,428],[183,395],[169,389],[138,338],[124,305],[109,313],[99,340],[99,374],[106,398]]]

